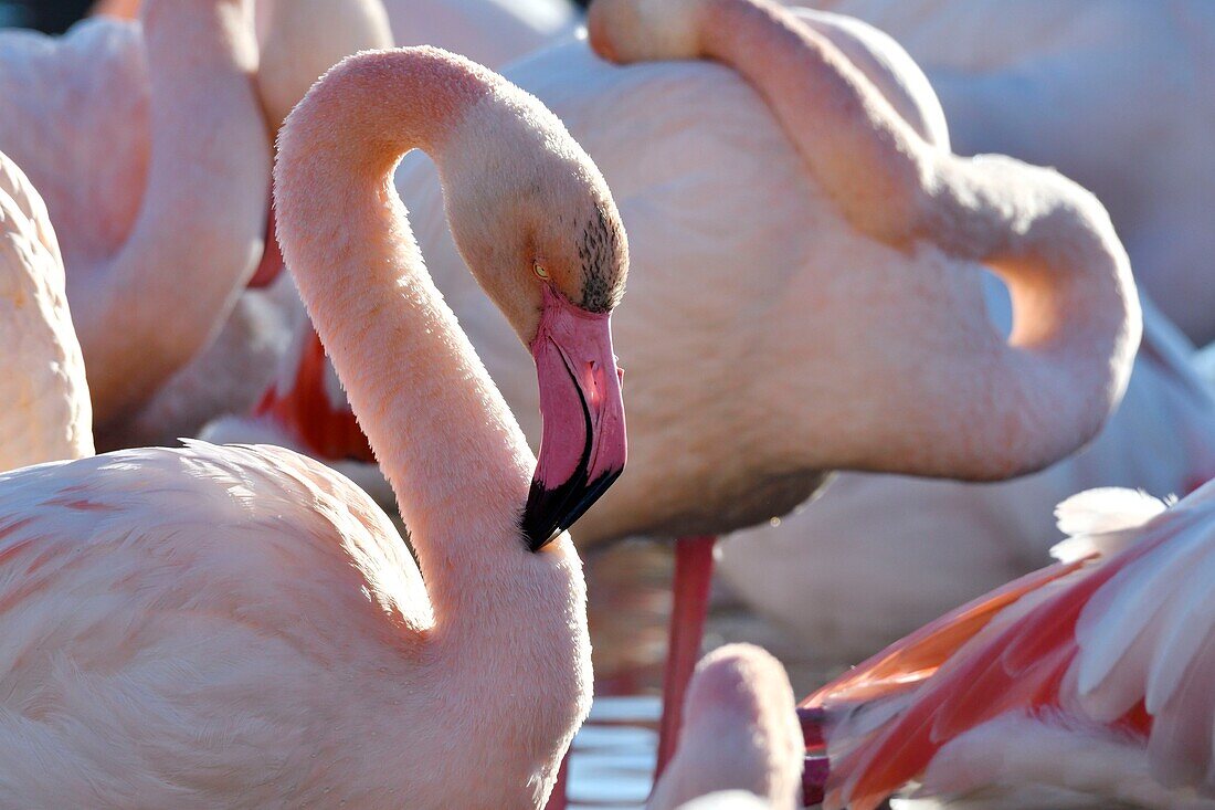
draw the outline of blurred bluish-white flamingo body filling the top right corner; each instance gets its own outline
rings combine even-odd
[[[932,79],[959,152],[1053,165],[1096,193],[1140,286],[1198,345],[1215,341],[1215,5],[801,1],[895,36]]]

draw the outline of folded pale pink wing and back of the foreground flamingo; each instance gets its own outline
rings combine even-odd
[[[429,621],[388,517],[290,451],[0,474],[0,805],[323,804],[306,782],[330,763],[307,752],[371,722],[332,716],[330,696],[364,666],[364,688],[383,681]]]

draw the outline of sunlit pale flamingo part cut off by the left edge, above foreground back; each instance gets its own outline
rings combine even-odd
[[[0,152],[0,469],[91,456],[92,406],[46,204]]]

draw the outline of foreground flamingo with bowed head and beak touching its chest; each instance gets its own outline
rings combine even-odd
[[[413,147],[536,356],[556,440],[531,490],[533,456],[390,189]],[[383,511],[288,450],[0,476],[0,804],[536,808],[586,714],[581,564],[544,529],[623,462],[609,311],[627,252],[601,176],[535,99],[412,49],[310,91],[276,189],[284,257],[425,584]],[[580,258],[586,240],[601,249]]]

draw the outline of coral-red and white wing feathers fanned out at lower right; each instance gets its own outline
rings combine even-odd
[[[827,718],[825,806],[877,808],[951,742],[1010,718],[1138,741],[1158,782],[1210,791],[1213,512],[1213,486],[1166,512],[1128,490],[1064,501],[1061,527],[1086,556],[959,608],[803,703]]]

